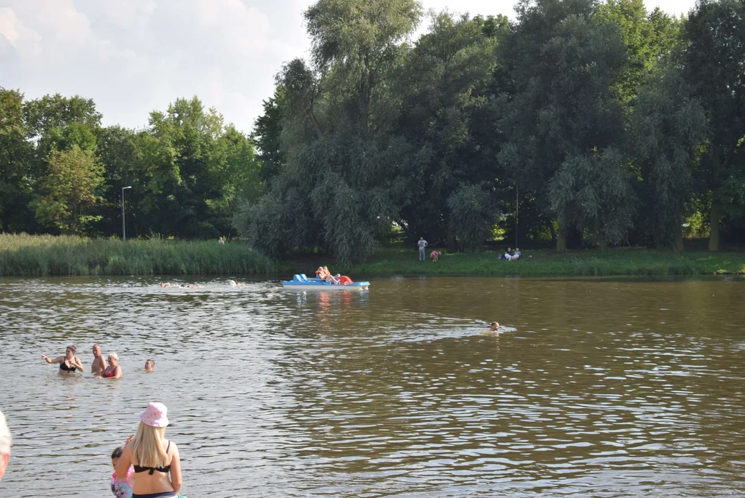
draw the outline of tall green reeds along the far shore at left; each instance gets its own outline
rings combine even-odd
[[[0,275],[252,275],[276,270],[245,243],[0,234]]]

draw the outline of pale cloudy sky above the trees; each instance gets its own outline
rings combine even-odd
[[[104,125],[142,128],[197,95],[250,132],[282,63],[308,54],[313,0],[0,0],[0,86],[95,100]],[[422,0],[425,10],[513,17],[513,0]],[[694,0],[645,0],[687,13]],[[419,28],[426,28],[425,19]]]

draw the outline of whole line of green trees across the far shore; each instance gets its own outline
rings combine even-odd
[[[745,239],[745,4],[522,0],[516,19],[319,0],[250,135],[196,98],[143,130],[92,101],[0,98],[4,231],[237,231],[272,256],[372,254],[395,223],[451,250]],[[131,192],[131,194],[130,194]],[[127,220],[130,223],[130,220]]]

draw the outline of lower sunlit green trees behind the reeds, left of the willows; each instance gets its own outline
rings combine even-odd
[[[253,141],[197,98],[150,113],[141,130],[101,126],[91,99],[25,100],[0,88],[3,232],[229,235],[237,199],[263,192]]]

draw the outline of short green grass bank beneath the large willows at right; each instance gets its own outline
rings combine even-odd
[[[344,269],[349,275],[744,275],[745,252],[659,252],[653,249],[523,251],[520,261],[499,261],[498,251],[443,254],[417,261],[415,250],[383,249],[370,261]]]

